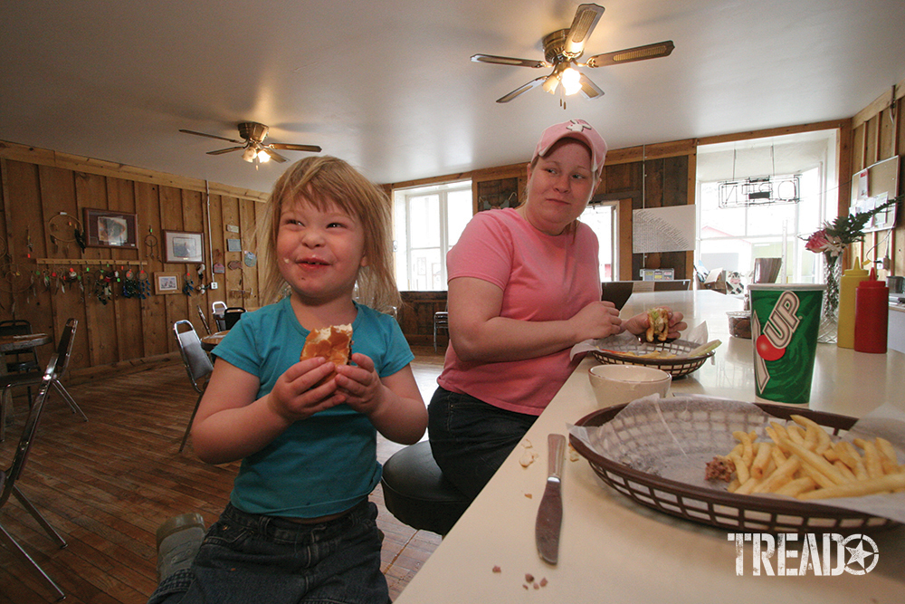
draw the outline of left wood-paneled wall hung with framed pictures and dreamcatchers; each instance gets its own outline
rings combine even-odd
[[[177,356],[172,325],[188,319],[203,334],[198,307],[212,329],[211,305],[258,306],[258,268],[243,262],[243,253],[225,252],[227,238],[240,238],[243,250],[254,251],[256,218],[262,211],[262,193],[216,186],[204,181],[167,177],[136,168],[0,144],[0,235],[5,255],[0,262],[0,318],[25,319],[33,331],[58,337],[66,320],[79,320],[70,371],[74,379],[91,379],[110,369],[140,366],[152,360]],[[87,247],[63,242],[48,221],[65,213],[81,225],[86,207],[136,215],[137,247]],[[54,225],[62,224],[58,219]],[[209,227],[208,227],[209,225]],[[239,233],[226,232],[226,225]],[[81,225],[84,226],[84,225]],[[191,231],[204,234],[205,271],[198,264],[162,261],[163,232]],[[154,244],[156,242],[156,244]],[[214,274],[211,251],[220,251],[224,266],[237,261],[238,268]],[[131,264],[129,264],[131,263]],[[138,264],[140,263],[140,264]],[[124,297],[115,277],[112,297],[99,296],[95,283],[119,271],[120,279],[132,269],[147,279],[150,292]],[[67,281],[70,270],[78,275]],[[140,273],[140,271],[144,273]],[[180,288],[191,280],[189,293],[157,294],[154,273],[181,275]],[[101,276],[103,275],[103,276]],[[198,291],[214,280],[217,289]],[[243,296],[242,292],[246,292]],[[52,346],[39,350],[42,362]]]

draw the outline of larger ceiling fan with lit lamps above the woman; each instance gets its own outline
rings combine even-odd
[[[553,72],[542,75],[524,86],[511,91],[509,94],[497,99],[497,102],[509,102],[519,94],[529,91],[540,85],[545,91],[553,94],[557,90],[560,81],[563,84],[563,93],[575,94],[581,92],[587,99],[603,96],[604,91],[591,81],[584,73],[578,72],[576,67],[605,67],[606,65],[618,65],[624,62],[644,61],[669,56],[675,48],[672,40],[655,44],[646,44],[634,48],[626,48],[614,53],[595,54],[586,62],[577,62],[585,52],[585,42],[594,31],[595,25],[604,14],[604,7],[598,5],[580,5],[572,20],[572,26],[568,29],[560,29],[552,34],[544,36],[544,58],[546,61],[532,61],[530,59],[514,59],[512,57],[500,57],[492,54],[475,54],[474,62],[490,62],[500,65],[515,65],[517,67],[533,67],[535,69],[553,68]],[[565,107],[564,101],[560,104]]]

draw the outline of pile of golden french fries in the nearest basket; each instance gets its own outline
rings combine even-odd
[[[860,497],[905,491],[905,465],[899,465],[891,443],[881,437],[833,439],[808,417],[791,416],[794,424],[770,422],[769,440],[737,430],[738,445],[716,458],[734,465],[729,492],[782,494],[801,500]],[[714,462],[710,462],[711,464]]]

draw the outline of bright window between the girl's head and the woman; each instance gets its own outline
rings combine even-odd
[[[472,182],[395,191],[394,254],[400,291],[446,289],[446,253],[472,219]]]

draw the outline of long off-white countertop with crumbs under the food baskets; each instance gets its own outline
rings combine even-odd
[[[670,305],[708,321],[710,339],[723,345],[710,362],[673,382],[676,393],[754,400],[751,340],[729,337],[725,313],[741,301],[717,292],[633,294],[623,316],[653,305]],[[691,523],[637,505],[607,487],[584,458],[567,461],[563,476],[564,519],[559,563],[538,557],[534,521],[547,471],[547,435],[567,435],[567,423],[595,411],[586,359],[531,428],[527,438],[538,460],[523,468],[522,447],[510,455],[472,506],[443,539],[396,602],[899,602],[905,590],[905,529],[877,532],[880,551],[870,573],[835,577],[752,576],[751,547],[736,574],[736,547],[729,532]],[[819,344],[811,408],[862,417],[882,402],[905,409],[905,355],[872,355]],[[775,560],[774,560],[775,561]],[[789,559],[797,568],[799,561]],[[500,572],[494,572],[495,566]],[[775,568],[775,564],[774,564]],[[525,589],[525,574],[546,578]]]

